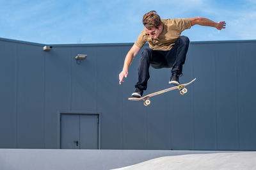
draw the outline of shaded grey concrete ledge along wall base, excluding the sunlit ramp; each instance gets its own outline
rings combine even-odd
[[[186,155],[189,158],[188,154],[207,155],[206,153],[234,151],[1,149],[0,169],[116,169],[159,157]],[[253,154],[252,157],[256,158],[256,152],[246,153]]]

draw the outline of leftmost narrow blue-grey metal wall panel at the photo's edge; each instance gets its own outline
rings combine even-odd
[[[17,140],[17,44],[0,41],[0,147],[15,148]]]

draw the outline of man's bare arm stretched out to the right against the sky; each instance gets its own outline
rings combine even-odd
[[[195,17],[190,19],[191,26],[195,26],[196,24],[200,26],[209,26],[209,27],[216,27],[216,29],[224,29],[226,26],[225,21],[220,21],[220,22],[214,22],[212,20],[203,18],[203,17]]]

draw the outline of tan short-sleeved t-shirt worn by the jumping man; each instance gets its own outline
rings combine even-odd
[[[150,38],[145,29],[138,36],[135,45],[143,47],[148,42],[150,49],[170,50],[179,38],[182,31],[191,27],[189,19],[162,19],[164,29],[156,40]]]

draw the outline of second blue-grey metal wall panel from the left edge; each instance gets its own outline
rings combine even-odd
[[[17,45],[17,147],[44,148],[44,54]]]

